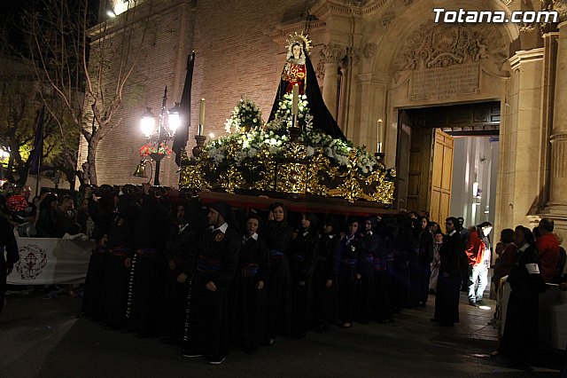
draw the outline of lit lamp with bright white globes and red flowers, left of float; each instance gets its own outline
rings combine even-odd
[[[156,116],[151,113],[151,107],[146,107],[144,114],[142,114],[142,119],[140,121],[140,126],[142,132],[148,143],[148,153],[151,159],[156,162],[154,175],[153,175],[153,185],[159,185],[159,164],[160,161],[167,155],[170,151],[167,147],[167,141],[171,140],[175,136],[175,130],[181,123],[180,111],[181,107],[179,103],[176,102],[175,106],[166,110],[167,106],[167,87],[163,93],[163,101],[161,102],[161,109],[159,110],[159,119],[156,127]],[[140,177],[139,168],[136,169],[135,176]]]

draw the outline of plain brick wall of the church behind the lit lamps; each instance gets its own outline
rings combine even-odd
[[[196,59],[188,151],[197,133],[200,98],[206,98],[206,135],[224,133],[224,122],[242,96],[258,104],[267,120],[285,59],[283,45],[274,43],[270,35],[280,25],[302,25],[303,15],[312,4],[303,0],[154,0],[156,9],[168,8],[151,17],[143,53],[117,114],[120,124],[99,145],[98,184],[139,184],[148,180],[131,176],[139,162],[138,148],[145,143],[139,128],[140,115],[145,106],[159,114],[166,85],[167,107],[179,101],[191,47]],[[86,158],[86,150],[82,157]],[[161,168],[161,184],[176,186],[174,159],[162,161]]]

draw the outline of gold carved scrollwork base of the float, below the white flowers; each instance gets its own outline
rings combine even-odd
[[[392,204],[395,170],[384,169],[383,164],[378,164],[374,171],[362,173],[355,150],[350,152],[346,167],[333,165],[322,148],[316,148],[315,153],[307,157],[307,146],[290,142],[283,151],[283,156],[276,158],[264,148],[254,159],[240,165],[215,164],[205,153],[195,161],[186,161],[181,170],[180,187],[222,188],[229,193],[237,190],[276,191],[340,197],[350,202],[362,199]],[[237,153],[238,146],[227,148],[228,156],[234,157]]]

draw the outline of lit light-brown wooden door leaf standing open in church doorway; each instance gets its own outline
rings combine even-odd
[[[450,216],[454,139],[436,129],[431,167],[430,220],[443,224]]]

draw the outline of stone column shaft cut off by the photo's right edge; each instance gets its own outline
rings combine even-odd
[[[549,174],[549,212],[567,216],[567,21],[559,24]]]

